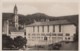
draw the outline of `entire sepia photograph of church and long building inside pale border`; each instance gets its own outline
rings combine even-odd
[[[78,51],[78,3],[2,3],[2,50]]]

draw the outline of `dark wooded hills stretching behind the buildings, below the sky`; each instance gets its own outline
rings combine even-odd
[[[3,22],[7,19],[12,19],[14,17],[13,13],[2,13],[3,16]],[[69,15],[69,16],[60,16],[60,17],[54,17],[54,16],[48,16],[44,13],[35,13],[35,14],[30,14],[30,15],[22,15],[18,14],[19,16],[19,23],[20,24],[31,24],[36,21],[41,21],[41,19],[50,19],[51,21],[53,20],[68,20],[75,25],[78,25],[78,15]],[[73,18],[73,19],[72,19]],[[74,21],[73,21],[74,20]]]

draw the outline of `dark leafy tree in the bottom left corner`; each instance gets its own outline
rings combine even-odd
[[[2,49],[13,48],[13,39],[10,36],[2,35]]]

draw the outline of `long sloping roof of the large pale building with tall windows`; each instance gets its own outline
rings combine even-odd
[[[56,20],[56,21],[48,21],[48,22],[35,22],[29,24],[27,26],[40,26],[40,25],[65,25],[65,24],[72,24],[68,20]]]

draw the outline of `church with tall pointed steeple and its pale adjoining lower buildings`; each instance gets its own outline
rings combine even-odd
[[[12,23],[12,25],[10,25]],[[7,19],[3,21],[2,34],[7,34],[11,38],[15,38],[17,36],[25,37],[25,30],[19,30],[19,17],[18,17],[18,9],[17,6],[14,6],[13,16],[11,19]]]

